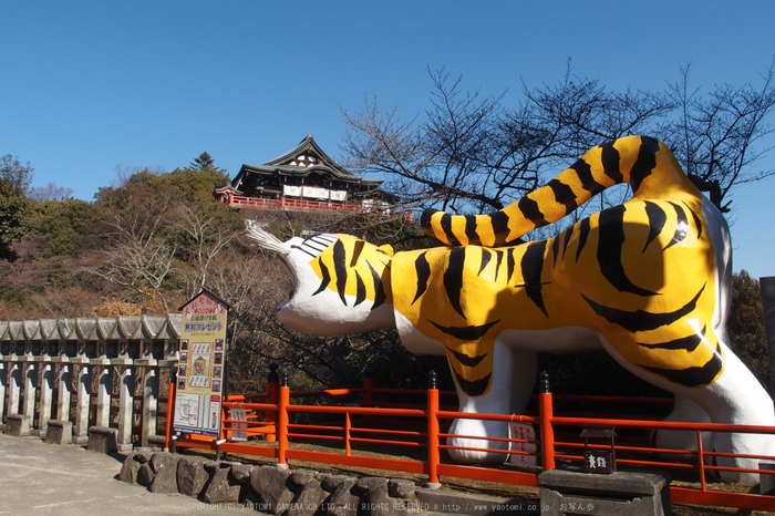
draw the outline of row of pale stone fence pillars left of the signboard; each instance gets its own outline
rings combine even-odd
[[[164,438],[159,380],[177,367],[180,322],[174,313],[0,321],[0,421],[29,416],[41,436],[49,421],[70,421],[76,444],[90,426],[114,427],[120,452]]]

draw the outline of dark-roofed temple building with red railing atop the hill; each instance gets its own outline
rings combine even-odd
[[[264,165],[242,165],[231,185],[216,188],[229,206],[390,214],[397,197],[381,180],[348,172],[318,146],[311,134]]]

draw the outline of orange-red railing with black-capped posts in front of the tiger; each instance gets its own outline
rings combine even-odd
[[[275,385],[270,385],[275,383]],[[276,390],[276,391],[275,391]],[[721,454],[704,451],[702,447],[702,432],[745,432],[775,434],[775,426],[741,426],[720,424],[694,424],[662,422],[648,419],[623,417],[579,417],[555,415],[552,394],[548,389],[538,394],[535,415],[520,415],[519,421],[538,425],[539,438],[535,441],[517,438],[493,438],[512,443],[512,450],[490,450],[505,455],[529,455],[540,460],[541,468],[519,467],[516,465],[486,467],[465,466],[445,463],[442,460],[442,450],[465,450],[448,444],[443,444],[444,437],[452,434],[445,433],[445,426],[453,419],[475,419],[487,421],[514,422],[514,415],[504,414],[472,414],[454,410],[446,410],[440,405],[440,396],[450,392],[431,388],[427,391],[397,391],[374,389],[373,383],[364,382],[363,389],[338,389],[320,392],[291,393],[288,386],[280,386],[278,382],[268,382],[268,394],[261,396],[229,396],[224,403],[225,411],[232,407],[241,407],[247,412],[245,420],[225,419],[223,421],[223,437],[226,442],[217,444],[214,441],[202,441],[189,437],[176,440],[177,446],[216,450],[220,452],[238,453],[246,455],[275,458],[279,464],[287,464],[289,460],[338,464],[344,466],[371,467],[385,471],[406,472],[425,475],[431,484],[438,484],[441,476],[473,478],[479,481],[499,482],[537,486],[537,476],[540,471],[555,468],[558,462],[570,464],[582,461],[581,448],[585,446],[578,438],[578,429],[589,426],[614,426],[622,434],[638,433],[647,437],[623,435],[616,445],[617,464],[640,469],[665,468],[675,472],[676,475],[694,478],[694,487],[691,483],[682,486],[671,486],[671,497],[676,503],[699,505],[717,505],[743,509],[775,510],[775,496],[731,493],[727,491],[714,491],[705,481],[705,474],[720,471],[771,472],[746,468],[733,468],[719,465],[707,465],[712,457],[752,457],[747,455]],[[277,395],[275,395],[275,392]],[[423,395],[425,403],[421,404],[391,404],[374,401],[375,395],[396,394]],[[302,401],[309,396],[361,396],[360,406],[347,403],[329,405],[291,404],[291,399]],[[561,396],[558,396],[561,398]],[[611,402],[614,398],[585,396],[585,401]],[[627,402],[636,401],[628,399]],[[642,401],[638,399],[638,401]],[[648,400],[647,400],[648,401]],[[657,403],[664,403],[658,401]],[[364,406],[369,405],[369,406]],[[378,405],[378,406],[374,406]],[[388,406],[391,405],[391,406]],[[302,414],[308,417],[318,417],[319,421],[298,423],[294,420]],[[329,417],[329,420],[323,420]],[[334,422],[330,420],[334,419]],[[379,419],[379,421],[378,421]],[[396,421],[396,419],[399,419]],[[385,424],[392,422],[393,424]],[[244,427],[248,440],[252,442],[230,442],[232,432],[237,426]],[[653,430],[682,430],[692,431],[698,438],[698,451],[655,450],[648,445],[648,434]],[[562,431],[565,431],[562,433]],[[576,440],[574,440],[576,436]],[[259,440],[277,443],[270,446],[262,445]],[[458,435],[459,437],[459,435]],[[471,438],[480,438],[473,437]],[[276,438],[276,441],[272,441]],[[328,443],[341,447],[341,452],[306,450],[291,445],[294,442]],[[516,450],[514,443],[534,444],[537,452]],[[645,444],[644,444],[645,443]],[[363,456],[353,451],[353,445],[381,446],[382,448],[402,448],[401,454],[388,454],[386,456]],[[602,445],[590,445],[590,447]],[[323,446],[321,446],[323,447]],[[405,458],[407,455],[416,458]],[[421,453],[421,455],[418,455]],[[400,456],[395,456],[400,455]],[[391,457],[392,456],[392,457]],[[660,458],[660,456],[676,457],[674,461]],[[756,456],[757,460],[775,460],[769,456]]]

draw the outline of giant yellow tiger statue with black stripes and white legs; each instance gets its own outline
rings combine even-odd
[[[545,241],[516,244],[593,194],[629,183],[633,196]],[[446,355],[459,411],[523,413],[538,352],[604,349],[624,369],[675,395],[671,421],[775,425],[773,401],[727,347],[731,247],[726,223],[664,144],[628,136],[588,151],[548,185],[492,215],[426,210],[425,233],[447,247],[393,254],[349,235],[281,242],[248,236],[293,277],[285,324],[341,336],[396,328],[413,353]],[[462,463],[503,462],[505,423],[456,420]],[[685,434],[689,441],[684,442]],[[659,447],[690,447],[661,432]],[[775,455],[767,435],[714,433],[717,452]],[[757,467],[755,458],[719,458]],[[725,473],[725,481],[758,475]]]

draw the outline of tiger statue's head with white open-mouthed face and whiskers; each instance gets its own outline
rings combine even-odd
[[[362,333],[395,324],[392,249],[332,234],[282,242],[254,221],[247,223],[247,235],[275,252],[293,280],[290,299],[277,307],[283,324],[318,336]]]

